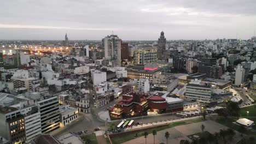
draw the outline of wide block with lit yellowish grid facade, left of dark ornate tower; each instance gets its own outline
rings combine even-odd
[[[150,46],[137,46],[133,51],[134,64],[154,63],[158,59],[158,50]]]

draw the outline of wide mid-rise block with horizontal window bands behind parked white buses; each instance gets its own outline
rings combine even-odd
[[[185,98],[190,100],[199,100],[202,103],[211,101],[211,87],[200,85],[199,83],[189,83],[186,86]]]

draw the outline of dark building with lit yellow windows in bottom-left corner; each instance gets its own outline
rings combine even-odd
[[[11,143],[26,140],[24,116],[15,107],[0,107],[0,135]]]

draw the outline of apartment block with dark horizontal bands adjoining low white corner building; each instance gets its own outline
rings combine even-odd
[[[37,101],[40,111],[42,133],[60,128],[60,110],[57,97],[44,97]]]

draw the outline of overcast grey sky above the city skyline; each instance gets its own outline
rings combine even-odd
[[[8,0],[1,1],[0,39],[123,40],[249,39],[255,0]]]

